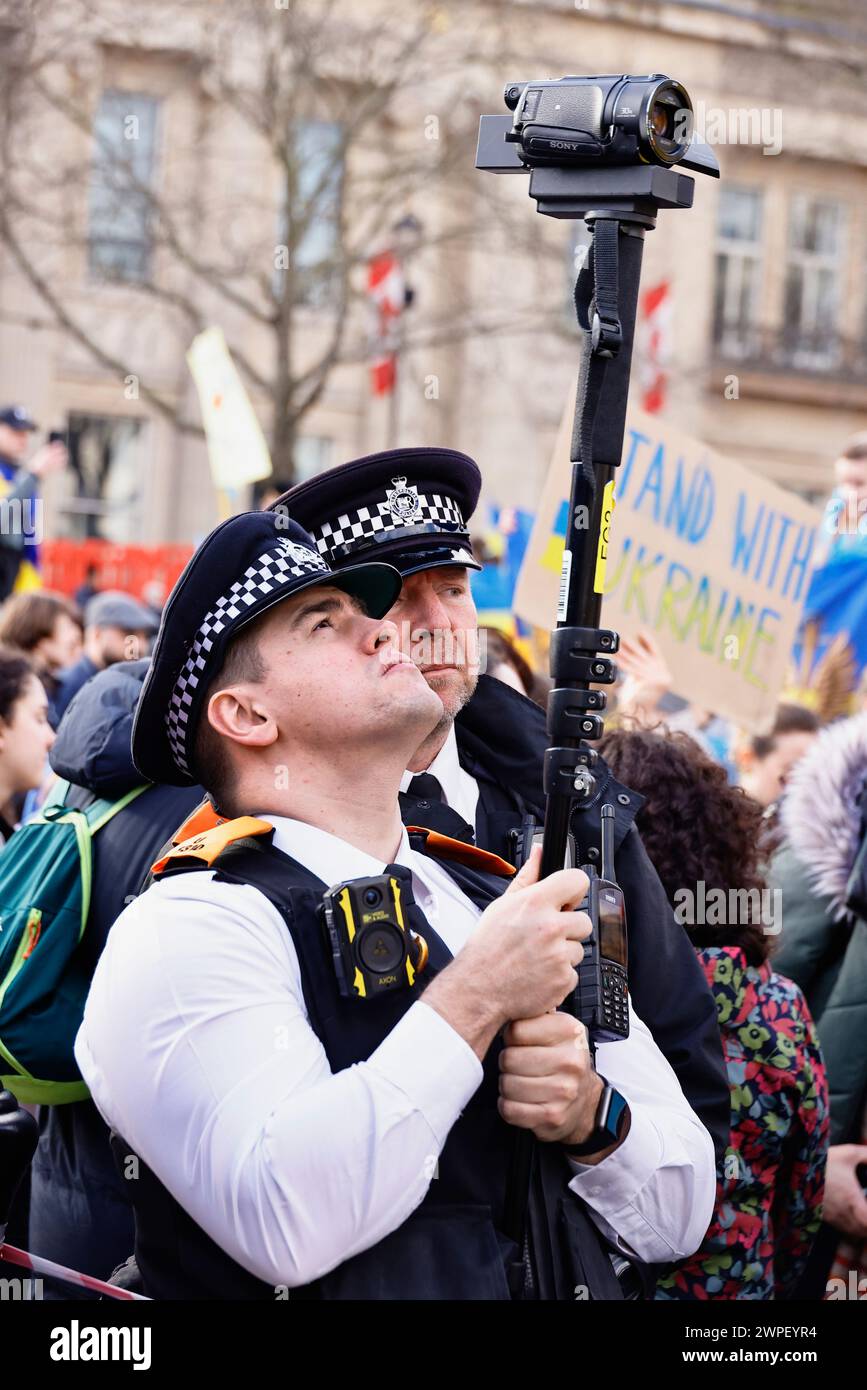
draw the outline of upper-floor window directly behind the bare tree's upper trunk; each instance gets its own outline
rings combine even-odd
[[[278,242],[289,247],[296,297],[327,304],[340,263],[343,128],[336,121],[303,121],[296,128],[290,188],[283,188]],[[281,272],[275,293],[281,293]]]

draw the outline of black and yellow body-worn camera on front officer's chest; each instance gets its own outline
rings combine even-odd
[[[375,999],[408,990],[428,960],[428,942],[410,930],[408,878],[383,873],[336,884],[322,897],[321,915],[345,998]]]

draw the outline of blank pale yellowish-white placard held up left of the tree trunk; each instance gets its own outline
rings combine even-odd
[[[186,354],[199,391],[211,477],[218,492],[236,492],[271,475],[271,456],[256,411],[221,328],[206,328]]]

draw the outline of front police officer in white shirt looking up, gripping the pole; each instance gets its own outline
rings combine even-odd
[[[114,924],[76,1040],[154,1297],[509,1298],[520,1130],[557,1186],[531,1245],[553,1283],[521,1289],[620,1297],[610,1248],[677,1259],[707,1226],[710,1137],[646,1027],[603,1044],[597,1073],[582,1026],[549,1012],[575,983],[586,877],[538,883],[536,856],[513,880],[402,826],[442,706],[382,619],[399,587],[249,513],[168,600],[133,758],[153,781],[197,776],[233,819],[172,849]],[[338,969],[322,894],[386,870],[406,951],[378,966],[356,923],[356,970]]]

